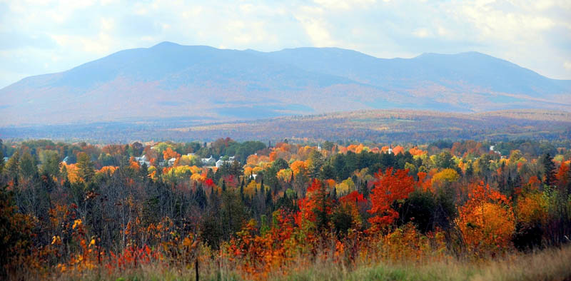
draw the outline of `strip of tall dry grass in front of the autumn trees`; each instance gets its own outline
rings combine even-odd
[[[305,266],[304,266],[305,265]],[[352,268],[328,260],[294,262],[288,268],[261,276],[261,280],[571,280],[571,245],[530,254],[513,253],[492,260],[426,262],[378,262]],[[236,268],[206,261],[201,280],[244,280]],[[144,265],[121,272],[92,270],[83,275],[57,275],[54,280],[195,280],[192,266]]]

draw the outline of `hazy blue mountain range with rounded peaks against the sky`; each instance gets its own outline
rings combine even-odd
[[[373,108],[570,111],[571,81],[475,52],[383,59],[340,48],[263,53],[163,42],[0,89],[0,126]]]

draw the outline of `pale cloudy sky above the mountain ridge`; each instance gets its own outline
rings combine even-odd
[[[161,41],[380,58],[480,51],[571,79],[570,19],[570,0],[0,0],[0,87]]]

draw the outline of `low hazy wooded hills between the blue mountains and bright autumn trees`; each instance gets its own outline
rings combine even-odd
[[[413,110],[366,110],[308,116],[284,116],[251,121],[197,121],[163,118],[153,121],[101,122],[53,126],[0,127],[3,138],[51,138],[118,143],[131,141],[375,141],[423,143],[443,138],[503,141],[513,139],[567,140],[571,113],[510,110],[482,113],[442,113]]]

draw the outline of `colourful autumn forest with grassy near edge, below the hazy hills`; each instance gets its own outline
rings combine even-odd
[[[571,276],[568,140],[34,140],[0,153],[2,279]]]

